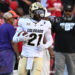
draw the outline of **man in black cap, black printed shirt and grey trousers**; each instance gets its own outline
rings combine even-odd
[[[66,4],[61,18],[52,27],[55,36],[55,75],[63,75],[65,64],[68,75],[75,75],[75,17],[73,5]],[[57,21],[56,20],[56,21]]]

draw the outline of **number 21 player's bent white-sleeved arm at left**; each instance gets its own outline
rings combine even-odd
[[[16,30],[16,33],[13,37],[13,42],[15,43],[18,43],[20,41],[26,41],[28,38],[27,38],[27,32],[24,32],[24,29],[22,27],[22,24],[24,24],[25,20],[24,19],[20,19],[19,22],[18,22],[18,28]]]

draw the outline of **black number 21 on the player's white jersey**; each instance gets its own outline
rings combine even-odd
[[[28,41],[28,45],[35,46],[35,44],[32,43],[32,41],[34,41],[37,38],[37,36],[38,36],[37,46],[40,45],[42,34],[36,35],[35,33],[33,33],[33,34],[30,35],[30,37],[32,37],[32,39],[30,39]]]

